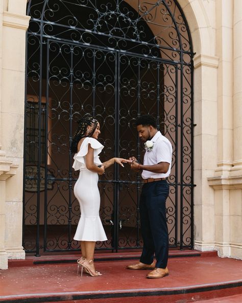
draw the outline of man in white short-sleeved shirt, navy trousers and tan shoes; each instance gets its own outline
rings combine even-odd
[[[142,171],[143,187],[140,196],[140,222],[143,250],[138,264],[128,269],[150,269],[147,278],[168,275],[168,230],[165,201],[169,194],[167,177],[171,173],[172,144],[157,129],[156,120],[144,115],[136,120],[139,139],[144,142],[146,154],[143,165],[136,158],[131,169]],[[154,264],[154,253],[156,265]]]

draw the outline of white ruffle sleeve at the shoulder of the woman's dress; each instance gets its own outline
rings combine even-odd
[[[96,139],[87,137],[83,140],[79,152],[74,156],[74,163],[72,168],[75,170],[86,168],[85,156],[88,152],[88,144],[94,149],[93,160],[96,165],[102,164],[99,159],[99,154],[102,152],[104,146]]]

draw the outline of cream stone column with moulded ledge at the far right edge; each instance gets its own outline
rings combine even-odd
[[[208,183],[214,192],[214,247],[242,258],[242,2],[216,1],[217,165]]]

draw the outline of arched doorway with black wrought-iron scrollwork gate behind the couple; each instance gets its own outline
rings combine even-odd
[[[157,118],[173,143],[167,223],[170,245],[192,243],[192,48],[176,0],[32,0],[27,39],[25,196],[27,252],[78,249],[79,205],[69,152],[76,121],[93,113],[110,157],[142,159],[134,121]],[[98,249],[142,246],[140,176],[116,166],[100,182],[108,241]]]

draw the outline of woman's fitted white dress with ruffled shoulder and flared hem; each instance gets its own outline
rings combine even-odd
[[[106,241],[107,237],[99,217],[100,193],[98,188],[99,175],[86,167],[88,144],[94,149],[94,163],[102,164],[99,154],[103,145],[94,138],[85,138],[79,152],[74,156],[73,168],[80,170],[79,178],[74,186],[74,194],[79,201],[81,218],[78,223],[74,240]]]

